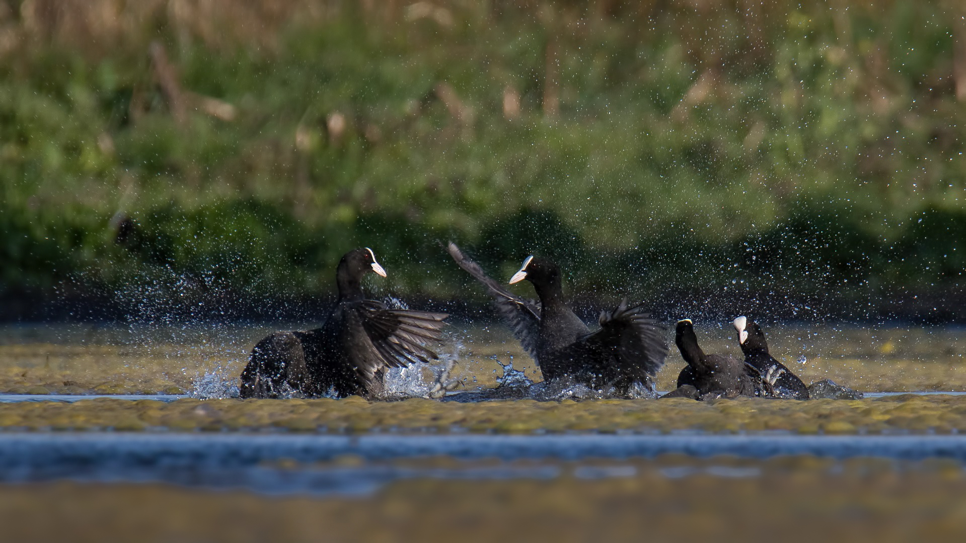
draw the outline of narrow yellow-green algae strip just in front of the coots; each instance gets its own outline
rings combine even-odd
[[[0,427],[30,430],[298,432],[565,432],[699,430],[799,433],[966,431],[966,396],[903,394],[862,400],[761,398],[533,400],[480,403],[408,399],[197,400],[97,398],[0,404]]]

